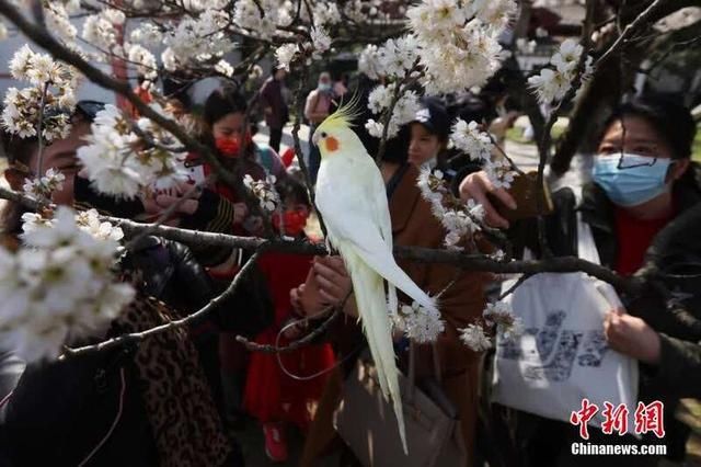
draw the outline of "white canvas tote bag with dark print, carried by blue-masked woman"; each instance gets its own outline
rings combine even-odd
[[[577,220],[579,258],[599,263],[589,226]],[[512,341],[497,339],[493,402],[570,421],[587,398],[599,407],[590,421],[595,426],[604,421],[605,401],[634,411],[637,362],[609,349],[604,335],[605,314],[620,306],[610,285],[581,272],[542,273],[506,300],[525,332]]]

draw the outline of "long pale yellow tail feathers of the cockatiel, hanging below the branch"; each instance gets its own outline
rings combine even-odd
[[[365,264],[358,255],[346,253],[343,257],[350,271],[358,314],[375,361],[380,388],[386,399],[388,396],[392,399],[402,446],[404,453],[409,454],[402,398],[399,388],[399,369],[397,368],[394,348],[392,345],[392,328],[387,312],[384,281],[382,276]],[[392,299],[391,295],[390,300]],[[395,300],[397,293],[394,292],[393,295]]]

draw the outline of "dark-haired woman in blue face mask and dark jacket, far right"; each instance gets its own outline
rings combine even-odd
[[[664,443],[667,457],[675,460],[683,459],[688,433],[674,419],[678,400],[701,395],[701,168],[690,159],[694,134],[689,111],[670,101],[637,99],[620,105],[604,125],[591,182],[581,197],[571,189],[552,193],[554,210],[545,219],[548,244],[555,255],[577,253],[579,212],[602,265],[621,275],[654,266],[659,282],[673,292],[669,300],[651,283],[640,296],[621,296],[625,309],[611,310],[604,322],[609,346],[639,361],[639,399],[665,403],[665,437],[637,442],[607,436],[591,426],[589,433],[593,444]],[[535,223],[509,226],[490,200],[496,197],[512,208],[516,202],[483,172],[468,175],[460,193],[485,206],[487,223],[508,228],[515,254],[525,247],[538,254]],[[514,452],[527,459],[524,465],[658,462],[642,456],[573,458],[571,444],[581,441],[575,428],[522,412],[518,420],[517,432],[525,431]]]

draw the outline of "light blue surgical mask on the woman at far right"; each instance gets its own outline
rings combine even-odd
[[[669,191],[665,180],[670,163],[670,159],[628,152],[596,156],[594,182],[604,189],[613,204],[637,206]]]

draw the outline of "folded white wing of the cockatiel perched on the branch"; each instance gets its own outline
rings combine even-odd
[[[327,164],[325,169],[332,168]],[[335,167],[332,170],[334,169],[340,168]],[[357,170],[357,167],[355,169]],[[437,310],[435,300],[428,297],[394,261],[392,227],[384,184],[377,168],[374,169],[375,173],[367,170],[364,173],[365,176],[347,183],[342,189],[342,193],[331,183],[317,185],[317,205],[323,216],[331,241],[332,243],[338,241],[352,243],[363,261],[384,277],[390,287],[395,286],[422,306]],[[331,179],[343,180],[336,176]],[[354,183],[357,181],[361,182]],[[395,296],[394,298],[390,296],[390,301],[395,299]]]

